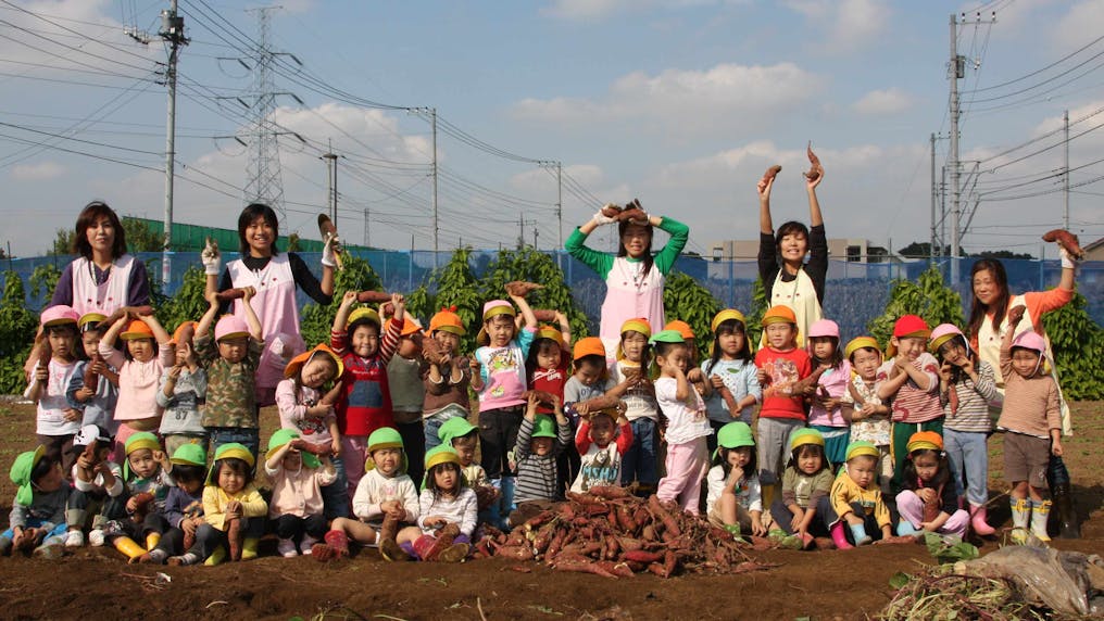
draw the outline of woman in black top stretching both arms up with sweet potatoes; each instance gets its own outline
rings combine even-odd
[[[817,201],[817,185],[825,178],[825,169],[815,164],[819,173],[806,179],[809,194],[809,228],[795,221],[787,222],[775,233],[771,220],[771,189],[777,178],[761,179],[760,195],[760,278],[766,289],[767,307],[789,307],[797,317],[797,346],[805,346],[809,325],[822,318],[820,304],[825,298],[825,278],[828,276],[828,240],[825,221]],[[805,263],[805,255],[809,261]],[[765,343],[765,341],[764,341]],[[762,343],[761,343],[762,344]]]

